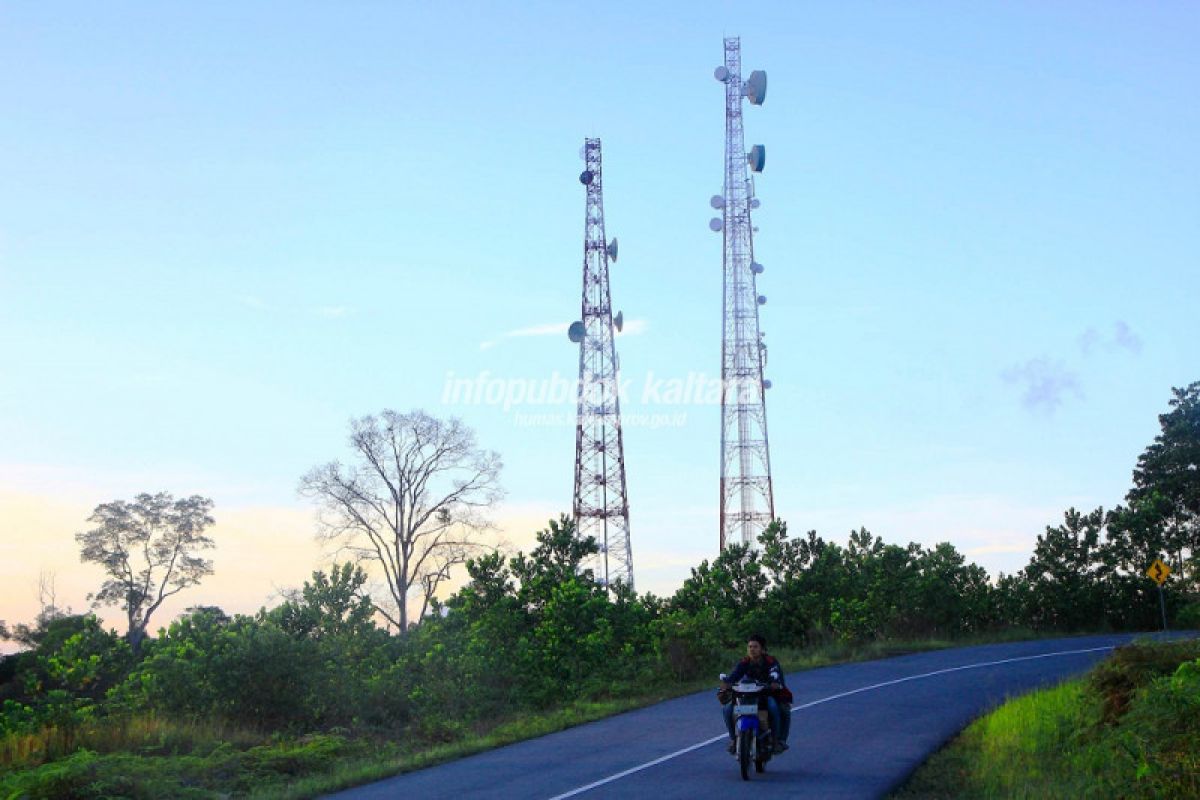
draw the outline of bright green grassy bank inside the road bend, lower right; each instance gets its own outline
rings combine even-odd
[[[893,798],[1200,798],[1200,642],[1120,648],[980,717]]]

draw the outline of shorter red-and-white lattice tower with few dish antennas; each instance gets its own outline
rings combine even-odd
[[[580,536],[600,543],[595,576],[604,585],[634,585],[629,541],[625,450],[620,432],[617,347],[613,330],[623,315],[612,313],[608,261],[617,260],[617,240],[606,243],[600,139],[584,139],[587,162],[580,182],[587,187],[583,227],[583,318],[569,336],[580,345],[578,408],[575,428],[575,523]]]

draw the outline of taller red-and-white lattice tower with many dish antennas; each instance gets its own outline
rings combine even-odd
[[[725,239],[725,325],[721,338],[721,548],[731,542],[755,543],[775,518],[767,446],[767,398],[770,381],[762,377],[767,348],[758,330],[762,265],[754,258],[750,210],[757,207],[752,173],[761,173],[767,151],[748,152],[742,131],[742,98],[761,106],[767,73],[754,71],[742,80],[742,46],[725,40],[725,65],[714,73],[725,84],[725,193],[713,197],[721,210],[709,227]]]

